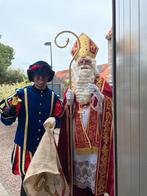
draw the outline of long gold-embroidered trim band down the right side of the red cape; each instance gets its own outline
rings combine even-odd
[[[106,98],[104,103],[103,129],[100,143],[99,164],[96,173],[96,196],[106,191],[110,150],[112,141],[112,108],[111,100]]]

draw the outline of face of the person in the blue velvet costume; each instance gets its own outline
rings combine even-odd
[[[44,90],[47,85],[48,75],[46,74],[34,74],[33,76],[34,85],[39,90]]]

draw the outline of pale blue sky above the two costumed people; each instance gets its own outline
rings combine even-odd
[[[26,71],[38,60],[50,63],[49,47],[52,42],[53,69],[69,67],[70,50],[75,42],[65,34],[60,40],[66,49],[54,44],[55,36],[70,30],[78,36],[84,32],[98,45],[97,64],[107,63],[107,40],[105,35],[112,26],[111,0],[0,0],[0,41],[14,48],[12,67]]]

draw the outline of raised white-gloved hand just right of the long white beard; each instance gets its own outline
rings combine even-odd
[[[99,88],[95,84],[88,83],[88,90],[92,94],[92,100],[91,100],[91,106],[92,108],[102,113],[102,106],[103,106],[103,100],[104,95],[100,92]],[[97,105],[94,106],[94,101],[97,99]]]

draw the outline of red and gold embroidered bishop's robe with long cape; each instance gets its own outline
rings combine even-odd
[[[78,108],[80,105],[75,101],[73,104],[73,120],[74,120],[74,143],[77,152],[96,151],[98,153],[96,178],[95,178],[95,194],[89,192],[88,189],[73,188],[74,196],[101,195],[107,192],[110,196],[114,196],[114,160],[113,160],[113,133],[112,133],[112,89],[109,84],[99,76],[96,77],[95,84],[104,95],[101,128],[97,126],[97,112],[90,108],[90,117],[88,129],[82,131],[82,123],[80,121],[80,113]],[[66,93],[65,93],[66,94]],[[61,123],[61,131],[59,136],[58,153],[65,177],[70,185],[71,183],[71,133],[70,133],[70,114],[69,107],[65,102],[65,115]],[[91,146],[91,148],[89,148]],[[88,152],[88,153],[89,153]]]

